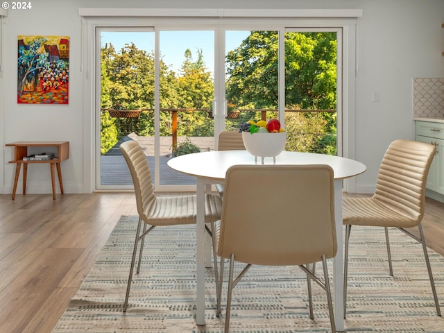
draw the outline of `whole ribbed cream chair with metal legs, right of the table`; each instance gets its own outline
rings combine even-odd
[[[384,228],[388,268],[391,276],[393,276],[393,266],[388,228],[398,228],[422,244],[436,313],[441,316],[432,268],[427,254],[427,244],[421,225],[425,212],[425,185],[435,154],[436,147],[432,144],[395,140],[388,146],[379,167],[375,194],[370,198],[343,198],[343,224],[345,225],[344,318],[347,305],[348,250],[352,225]],[[406,229],[413,227],[418,227],[419,237]]]

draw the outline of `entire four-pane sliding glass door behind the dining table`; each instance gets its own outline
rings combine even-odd
[[[193,189],[167,166],[217,147],[222,130],[279,119],[287,150],[336,154],[340,31],[100,28],[96,187],[132,187],[119,144],[144,149],[156,189]]]

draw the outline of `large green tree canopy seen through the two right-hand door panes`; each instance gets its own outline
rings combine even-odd
[[[226,57],[227,97],[254,108],[278,105],[278,32],[252,31]],[[286,105],[336,108],[336,33],[285,34]]]

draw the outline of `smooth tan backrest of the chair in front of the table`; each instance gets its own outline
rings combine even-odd
[[[237,165],[225,177],[218,255],[297,265],[336,255],[333,170],[327,165]]]

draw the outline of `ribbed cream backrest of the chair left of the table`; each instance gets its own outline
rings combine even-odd
[[[125,157],[133,179],[137,212],[139,216],[146,218],[145,212],[156,200],[148,161],[142,147],[135,141],[123,142],[119,148]]]

